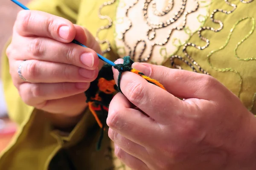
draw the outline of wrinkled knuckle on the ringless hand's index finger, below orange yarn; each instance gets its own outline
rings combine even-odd
[[[141,102],[145,93],[145,86],[138,82],[132,82],[128,87],[128,99],[134,102]]]

